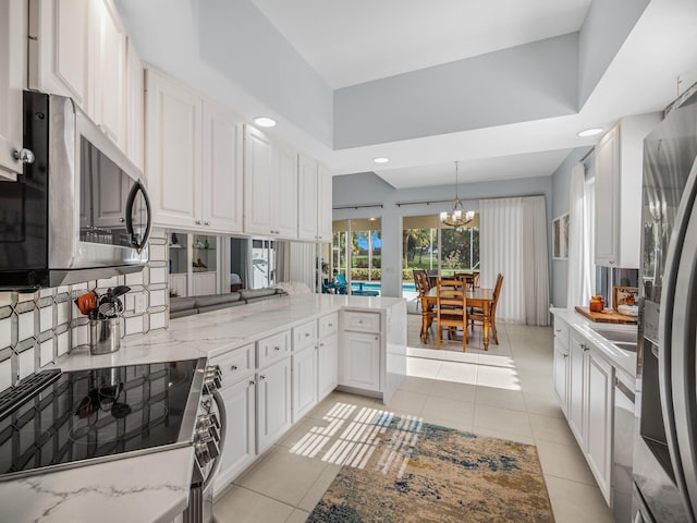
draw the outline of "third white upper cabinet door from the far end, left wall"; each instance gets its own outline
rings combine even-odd
[[[291,147],[276,144],[274,174],[276,192],[271,194],[276,203],[271,207],[271,224],[281,238],[297,238],[297,151]]]

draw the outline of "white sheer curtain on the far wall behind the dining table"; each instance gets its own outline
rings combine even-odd
[[[504,277],[497,319],[549,324],[549,267],[545,197],[479,200],[481,287]]]

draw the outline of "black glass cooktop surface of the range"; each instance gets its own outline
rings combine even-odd
[[[204,367],[185,360],[62,373],[0,419],[0,481],[191,441],[181,433],[195,421],[189,392]]]

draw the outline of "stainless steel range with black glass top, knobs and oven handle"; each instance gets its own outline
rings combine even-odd
[[[212,521],[225,416],[220,370],[206,362],[53,369],[23,379],[0,393],[0,482],[194,446],[183,519]]]

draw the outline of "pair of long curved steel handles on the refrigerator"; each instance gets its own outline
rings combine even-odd
[[[693,522],[697,509],[697,439],[693,426],[697,416],[694,325],[697,311],[690,297],[697,291],[697,212],[693,212],[696,195],[697,161],[677,208],[668,247],[659,320],[659,390],[667,442],[675,483]]]

